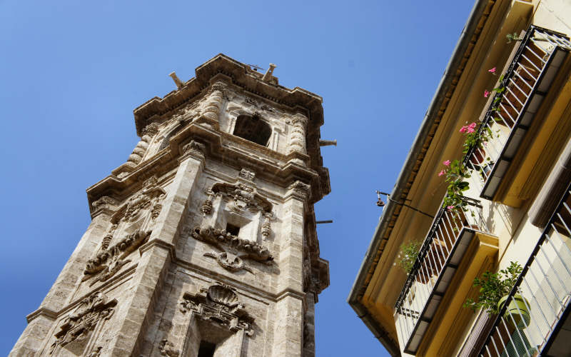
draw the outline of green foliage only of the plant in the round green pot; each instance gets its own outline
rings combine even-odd
[[[477,301],[468,298],[464,303],[464,307],[472,308],[473,311],[483,308],[488,313],[497,315],[521,272],[522,266],[512,261],[510,266],[497,273],[486,271],[482,274],[482,278],[474,278],[474,287],[480,286],[480,294]],[[514,300],[517,300],[517,296],[519,295],[516,294],[514,296]],[[521,296],[519,297],[521,298]],[[511,308],[508,310],[511,310]]]

